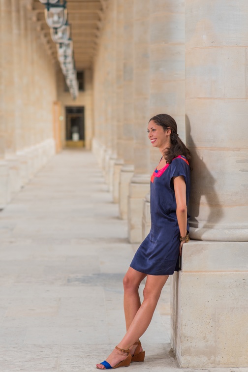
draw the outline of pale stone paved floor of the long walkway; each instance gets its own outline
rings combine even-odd
[[[0,212],[0,372],[96,371],[125,330],[122,278],[137,248],[126,237],[89,152],[54,156],[14,197]],[[201,371],[173,357],[169,292],[130,371]]]

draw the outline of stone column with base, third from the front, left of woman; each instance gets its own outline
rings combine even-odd
[[[147,140],[150,97],[150,2],[134,1],[134,176],[129,185],[128,237],[142,240],[142,204],[150,189],[150,148]]]

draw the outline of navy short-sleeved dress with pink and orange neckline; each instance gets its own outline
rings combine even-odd
[[[180,230],[172,178],[183,176],[186,202],[189,199],[190,170],[183,155],[154,171],[151,177],[151,230],[137,249],[130,267],[149,275],[171,275],[179,269]],[[189,215],[187,215],[188,221]],[[189,230],[187,222],[187,230]]]

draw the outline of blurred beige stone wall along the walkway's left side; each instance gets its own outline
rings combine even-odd
[[[25,1],[0,2],[0,208],[54,154],[55,66]]]

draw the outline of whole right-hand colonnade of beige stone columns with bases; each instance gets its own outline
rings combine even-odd
[[[247,12],[245,0],[109,0],[94,61],[93,149],[130,242],[150,228],[148,120],[174,116],[192,153],[194,241],[172,280],[181,367],[248,366]]]

